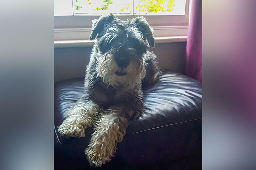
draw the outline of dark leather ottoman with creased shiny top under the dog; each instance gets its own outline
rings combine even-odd
[[[90,169],[85,138],[63,138],[58,126],[65,111],[84,92],[84,78],[54,84],[54,169]],[[131,123],[112,161],[97,169],[202,168],[202,82],[164,70],[156,83],[143,87],[145,113]]]

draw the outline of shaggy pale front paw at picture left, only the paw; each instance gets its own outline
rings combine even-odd
[[[83,122],[68,118],[59,126],[58,132],[61,136],[84,138],[85,125]]]

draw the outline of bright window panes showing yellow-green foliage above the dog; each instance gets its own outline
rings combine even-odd
[[[54,0],[54,16],[185,15],[186,0]],[[71,10],[72,7],[72,10]]]

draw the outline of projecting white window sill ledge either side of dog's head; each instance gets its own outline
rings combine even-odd
[[[186,42],[188,36],[155,37],[155,44]],[[54,48],[89,47],[93,46],[92,40],[55,40]]]

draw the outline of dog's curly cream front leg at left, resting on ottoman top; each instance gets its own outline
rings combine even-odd
[[[98,104],[92,101],[78,100],[76,105],[66,112],[67,117],[58,129],[60,135],[78,138],[85,137],[84,131],[88,126],[92,126],[98,110]]]

